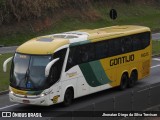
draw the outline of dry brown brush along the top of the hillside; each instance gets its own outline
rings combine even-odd
[[[0,0],[0,25],[52,16],[66,9],[87,11],[98,3],[113,5],[158,1],[160,0]]]

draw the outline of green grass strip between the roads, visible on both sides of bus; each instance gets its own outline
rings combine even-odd
[[[152,53],[153,55],[160,54],[160,41],[154,40],[152,41]],[[8,71],[6,73],[3,72],[3,62],[11,57],[13,54],[3,54],[0,55],[0,91],[7,90],[9,86],[9,73],[10,73],[10,64],[8,65]]]

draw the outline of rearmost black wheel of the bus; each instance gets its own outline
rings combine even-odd
[[[133,87],[138,79],[137,72],[132,71],[130,79],[128,81],[128,87]]]

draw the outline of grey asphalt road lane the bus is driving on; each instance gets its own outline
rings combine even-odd
[[[146,85],[159,83],[160,82],[159,78],[160,78],[160,57],[157,57],[152,59],[151,75],[141,81],[138,81],[135,87],[130,88],[128,90],[119,91],[117,88],[113,88],[113,89],[105,90],[95,94],[91,94],[91,95],[76,99],[74,103],[69,107],[63,107],[61,104],[57,104],[49,107],[42,107],[42,106],[29,106],[24,104],[11,103],[8,100],[8,94],[5,94],[0,96],[0,111],[24,111],[25,112],[25,111],[32,110],[36,112],[36,111],[47,110],[53,113],[54,111],[72,111],[72,110],[85,107],[91,103],[100,102],[107,98],[112,98],[114,96],[121,95],[124,92],[130,92],[133,89],[141,88]],[[51,113],[48,112],[48,115],[50,114]],[[48,118],[42,118],[42,119],[50,120]],[[17,118],[15,120],[17,120]]]

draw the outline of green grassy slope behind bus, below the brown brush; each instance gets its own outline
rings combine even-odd
[[[111,20],[109,18],[109,10],[115,8],[118,11],[118,18]],[[94,29],[112,25],[143,25],[151,28],[152,32],[160,31],[160,9],[156,5],[148,4],[115,4],[114,6],[96,4],[93,5],[95,10],[101,17],[94,20],[80,20],[76,17],[63,17],[48,29],[40,32],[19,31],[10,35],[0,35],[0,44],[5,46],[20,45],[27,40],[47,35],[78,29]]]

